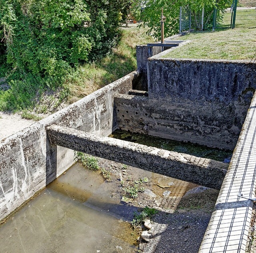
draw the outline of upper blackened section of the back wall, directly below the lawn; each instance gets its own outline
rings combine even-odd
[[[256,64],[250,61],[148,59],[150,99],[174,97],[249,104],[256,86]]]

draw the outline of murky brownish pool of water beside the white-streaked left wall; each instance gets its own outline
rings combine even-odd
[[[108,187],[75,164],[0,226],[0,252],[134,252],[137,235]]]

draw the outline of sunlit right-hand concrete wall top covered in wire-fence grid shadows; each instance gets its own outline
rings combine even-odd
[[[199,253],[246,250],[256,189],[256,94],[252,99]]]

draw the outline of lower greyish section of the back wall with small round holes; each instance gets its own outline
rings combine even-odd
[[[224,110],[224,102],[183,98],[158,101],[117,94],[114,102],[120,129],[229,150],[236,145],[242,126],[240,118],[246,114],[246,107],[237,106],[239,116],[234,117],[234,110]]]

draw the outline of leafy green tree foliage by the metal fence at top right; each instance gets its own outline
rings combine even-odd
[[[198,11],[204,8],[204,25],[206,28],[212,27],[214,7],[218,7],[219,12],[227,7],[230,0],[134,0],[132,4],[132,14],[137,20],[142,21],[142,26],[148,27],[148,34],[152,34],[156,39],[161,37],[160,16],[161,9],[164,8],[166,16],[165,37],[179,32],[180,6],[188,7],[192,11],[192,19],[196,28],[200,30],[200,25],[196,20]],[[231,6],[231,3],[229,6]]]

